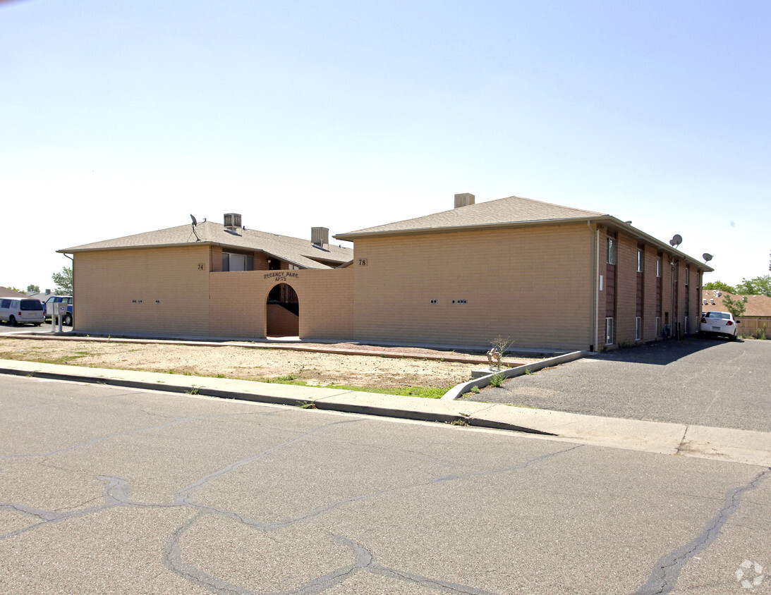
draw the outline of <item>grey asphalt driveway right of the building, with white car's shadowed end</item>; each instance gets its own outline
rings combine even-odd
[[[689,338],[512,378],[469,400],[771,432],[771,341]]]

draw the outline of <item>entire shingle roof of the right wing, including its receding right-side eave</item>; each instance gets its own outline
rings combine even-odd
[[[577,223],[581,221],[601,223],[611,229],[621,230],[625,234],[655,245],[665,254],[675,254],[681,257],[702,271],[712,271],[712,267],[697,261],[693,257],[689,257],[687,254],[683,254],[679,250],[675,250],[666,242],[645,234],[645,232],[611,215],[598,213],[594,210],[562,207],[558,204],[544,203],[540,200],[522,197],[488,200],[484,203],[457,207],[442,211],[441,213],[426,215],[425,217],[416,217],[414,219],[396,221],[396,223],[392,224],[350,231],[346,234],[337,234],[335,238],[338,240],[355,241],[359,237],[429,234],[443,231],[526,227]]]

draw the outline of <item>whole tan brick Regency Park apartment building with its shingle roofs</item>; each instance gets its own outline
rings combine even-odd
[[[520,197],[458,194],[335,236],[355,254],[324,228],[307,241],[233,222],[59,250],[76,331],[594,350],[695,333],[712,271],[610,215]]]

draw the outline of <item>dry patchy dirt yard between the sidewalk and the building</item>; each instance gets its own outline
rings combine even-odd
[[[289,351],[281,348],[142,344],[137,342],[36,341],[0,338],[0,358],[221,376],[248,380],[300,380],[308,385],[351,385],[367,388],[409,386],[450,387],[471,378],[483,365],[424,359],[437,351],[416,348],[384,348],[360,345],[319,345],[319,348],[357,348],[373,354],[408,353],[409,358],[381,355],[337,355]],[[445,354],[447,355],[447,354]],[[455,353],[454,355],[458,355]],[[534,361],[517,358],[517,362]],[[513,363],[513,362],[512,362]]]

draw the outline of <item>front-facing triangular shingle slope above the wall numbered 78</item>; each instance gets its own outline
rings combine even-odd
[[[557,204],[543,203],[540,200],[530,198],[507,197],[433,213],[425,217],[396,221],[396,223],[377,227],[367,227],[347,234],[338,234],[335,237],[342,240],[352,240],[355,237],[375,234],[414,233],[416,231],[513,225],[540,221],[547,223],[557,220],[582,220],[591,217],[603,217],[603,213],[561,207]]]

